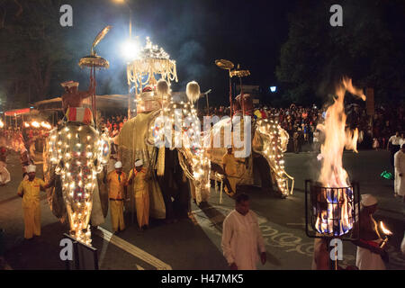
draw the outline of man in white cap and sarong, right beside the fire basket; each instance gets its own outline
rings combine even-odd
[[[356,266],[359,270],[385,270],[384,260],[388,260],[387,252],[380,247],[383,238],[378,232],[377,222],[373,218],[377,211],[377,199],[370,194],[363,194],[361,200],[360,227],[359,221],[353,229],[353,237],[357,246]]]

